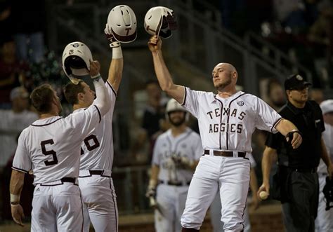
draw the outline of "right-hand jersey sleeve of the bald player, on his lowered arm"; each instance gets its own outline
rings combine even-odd
[[[277,111],[259,97],[256,97],[256,109],[254,111],[257,113],[255,120],[256,128],[273,133],[278,132],[278,130],[275,129],[275,125],[282,119],[282,116],[280,116]]]

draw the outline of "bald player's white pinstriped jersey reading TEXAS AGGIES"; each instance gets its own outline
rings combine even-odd
[[[276,133],[282,118],[259,97],[242,91],[224,99],[185,87],[182,105],[198,119],[204,149],[252,153],[255,128]]]

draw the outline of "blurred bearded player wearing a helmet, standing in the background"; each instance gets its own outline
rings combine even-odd
[[[171,128],[157,137],[152,155],[152,175],[147,196],[155,197],[155,230],[181,231],[193,170],[202,156],[200,136],[185,125],[188,113],[171,99],[166,104],[166,118]],[[156,194],[155,194],[156,193]]]

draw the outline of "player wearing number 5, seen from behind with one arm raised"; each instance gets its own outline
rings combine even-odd
[[[96,101],[86,110],[59,116],[62,108],[55,90],[44,84],[32,91],[32,106],[39,120],[22,131],[11,175],[11,214],[23,226],[20,205],[25,173],[34,173],[31,231],[82,231],[82,202],[77,183],[80,146],[96,127],[111,103],[99,74],[100,64],[90,62],[89,74]]]

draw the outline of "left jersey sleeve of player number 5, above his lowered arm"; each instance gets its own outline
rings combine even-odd
[[[25,133],[22,132],[20,137],[18,137],[18,147],[15,151],[12,168],[19,172],[29,173],[32,168],[31,164],[31,158],[25,146]]]

